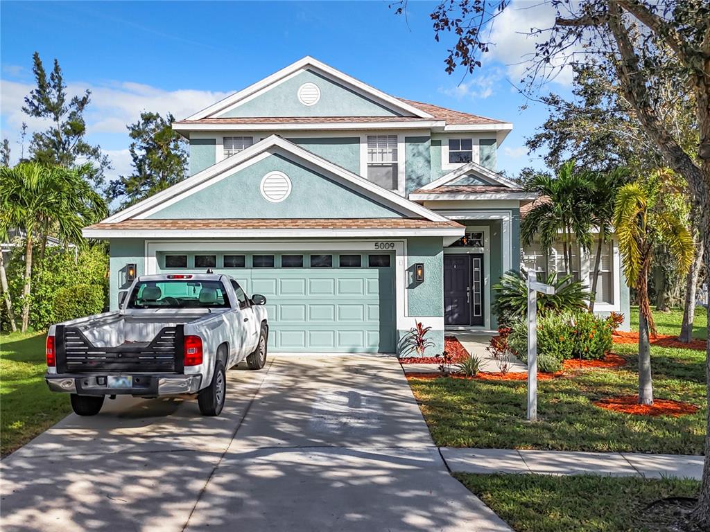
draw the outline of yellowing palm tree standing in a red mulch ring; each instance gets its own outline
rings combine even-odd
[[[693,238],[688,228],[657,201],[657,192],[638,183],[625,184],[616,194],[614,228],[628,286],[638,294],[638,402],[653,404],[649,333],[656,335],[648,299],[648,273],[657,238],[687,270],[693,260]]]

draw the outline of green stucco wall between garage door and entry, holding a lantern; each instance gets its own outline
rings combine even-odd
[[[407,240],[407,271],[405,287],[407,288],[408,314],[415,317],[444,316],[444,252],[441,237],[420,237]],[[414,265],[424,264],[424,282],[414,280]],[[415,326],[412,318],[411,326]],[[408,330],[398,331],[398,341]],[[443,329],[432,329],[427,338],[434,343],[425,353],[433,356],[444,349]]]

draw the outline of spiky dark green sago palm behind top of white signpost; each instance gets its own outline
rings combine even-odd
[[[515,321],[525,318],[528,311],[528,272],[509,270],[498,284],[493,285],[496,292],[492,309],[498,315],[498,323],[511,326]],[[542,279],[555,287],[555,294],[537,294],[537,316],[559,314],[562,312],[581,311],[587,308],[589,292],[579,281],[573,281],[571,275],[557,278],[555,273]]]

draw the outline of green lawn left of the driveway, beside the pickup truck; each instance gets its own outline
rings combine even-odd
[[[0,338],[0,454],[8,455],[69,414],[67,394],[44,382],[45,333]]]

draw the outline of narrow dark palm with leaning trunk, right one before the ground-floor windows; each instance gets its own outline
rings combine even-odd
[[[599,267],[601,265],[601,250],[604,243],[609,241],[613,233],[614,199],[619,187],[628,181],[629,171],[620,167],[611,172],[595,172],[591,174],[592,192],[589,198],[591,203],[591,223],[596,226],[599,239],[596,243],[594,267],[591,273],[591,298],[589,299],[589,312],[594,311],[596,299],[596,286],[599,281]]]

